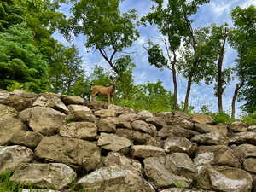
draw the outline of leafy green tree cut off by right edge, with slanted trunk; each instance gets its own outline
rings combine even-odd
[[[244,110],[249,113],[256,111],[256,8],[236,7],[231,16],[234,28],[230,32],[230,44],[237,51],[236,74],[239,78],[232,100],[234,118],[237,96],[246,101]]]

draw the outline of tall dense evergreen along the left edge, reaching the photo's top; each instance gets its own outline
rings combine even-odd
[[[20,84],[26,90],[48,90],[48,65],[34,46],[27,27],[25,9],[12,1],[0,3],[0,73],[1,88]]]

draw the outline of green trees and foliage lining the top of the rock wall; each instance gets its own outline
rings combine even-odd
[[[91,85],[110,85],[109,75],[113,75],[119,79],[118,105],[153,112],[191,112],[191,87],[204,82],[214,84],[218,97],[218,113],[212,115],[229,119],[222,97],[230,81],[236,79],[230,116],[235,118],[239,100],[245,102],[243,111],[256,119],[256,8],[233,9],[233,26],[195,28],[191,16],[210,0],[172,0],[165,7],[163,0],[152,2],[151,12],[137,18],[134,9],[119,10],[120,0],[1,0],[0,88],[53,91],[88,99]],[[70,17],[59,12],[61,3],[70,4]],[[124,53],[139,37],[137,25],[158,28],[161,39],[148,39],[143,47],[151,65],[172,73],[172,93],[160,81],[135,84],[132,71],[136,64]],[[98,51],[110,70],[96,66],[88,73],[90,63],[84,63],[75,45],[67,47],[52,38],[55,31],[70,41],[83,34],[85,49]],[[233,67],[224,68],[229,45],[237,52],[236,61]],[[184,101],[177,100],[177,74],[187,79]],[[201,113],[211,112],[202,106]]]

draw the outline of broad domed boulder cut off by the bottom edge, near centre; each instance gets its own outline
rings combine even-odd
[[[102,167],[79,179],[76,189],[104,192],[154,192],[154,188],[143,178],[118,166]]]

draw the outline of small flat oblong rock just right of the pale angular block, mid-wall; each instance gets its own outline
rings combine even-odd
[[[150,145],[134,145],[132,155],[139,158],[158,157],[166,155],[163,148]]]

